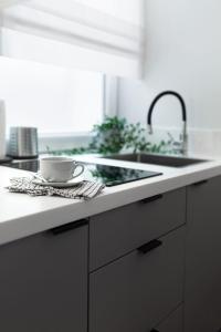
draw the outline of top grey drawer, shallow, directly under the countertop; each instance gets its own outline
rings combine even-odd
[[[186,188],[92,217],[91,271],[185,222]]]

